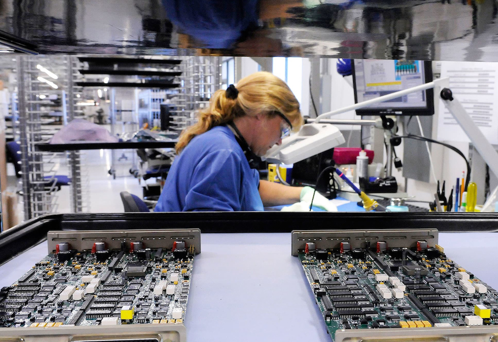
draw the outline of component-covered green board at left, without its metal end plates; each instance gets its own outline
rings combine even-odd
[[[50,253],[0,290],[0,327],[182,323],[195,250],[177,242]]]

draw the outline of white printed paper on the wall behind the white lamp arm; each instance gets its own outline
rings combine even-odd
[[[441,77],[450,77],[453,97],[460,101],[486,139],[498,144],[498,63],[442,62]],[[442,101],[439,101],[437,138],[470,142]]]

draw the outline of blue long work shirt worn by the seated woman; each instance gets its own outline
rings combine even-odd
[[[234,133],[217,126],[175,158],[154,211],[262,211],[258,186]]]

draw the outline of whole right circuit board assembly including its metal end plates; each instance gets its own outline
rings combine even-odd
[[[335,342],[498,341],[498,292],[427,229],[292,231]]]

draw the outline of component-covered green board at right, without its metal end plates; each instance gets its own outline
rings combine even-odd
[[[362,237],[363,247],[354,247],[343,237],[328,237],[334,248],[323,248],[326,238],[302,239],[295,250],[333,339],[348,329],[498,324],[497,291],[434,241],[391,247]]]

